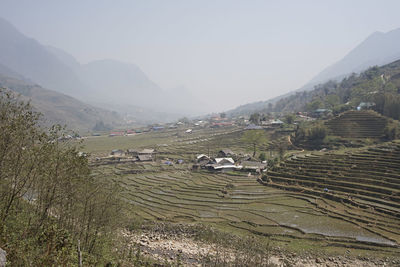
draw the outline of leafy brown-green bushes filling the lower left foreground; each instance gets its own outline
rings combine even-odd
[[[94,177],[60,127],[0,90],[0,247],[13,266],[106,262],[120,226],[119,187]]]

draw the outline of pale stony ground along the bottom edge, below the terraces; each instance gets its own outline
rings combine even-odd
[[[215,244],[207,244],[191,237],[182,235],[165,234],[157,232],[142,232],[133,234],[123,233],[131,240],[131,244],[140,248],[143,255],[151,257],[159,262],[169,264],[181,264],[183,266],[207,266],[212,263],[234,263],[237,252],[229,248],[218,247]],[[400,266],[400,259],[370,259],[350,258],[348,256],[315,257],[298,256],[294,253],[271,251],[270,255],[263,259],[264,266],[296,266],[296,267],[381,267]]]

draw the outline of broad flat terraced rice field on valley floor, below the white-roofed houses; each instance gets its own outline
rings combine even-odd
[[[312,195],[267,187],[243,174],[151,169],[124,174],[135,164],[97,171],[120,182],[124,199],[137,216],[150,221],[205,223],[237,233],[270,236],[290,243],[323,242],[324,246],[387,249],[394,242],[349,220],[331,216]],[[173,167],[171,167],[173,168]],[[344,244],[344,245],[343,245]]]

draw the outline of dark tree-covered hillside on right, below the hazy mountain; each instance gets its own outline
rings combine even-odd
[[[400,118],[400,61],[352,74],[341,82],[329,81],[313,91],[298,92],[279,100],[270,111],[326,108],[339,113],[354,109],[361,102],[374,104],[373,109],[385,116]]]

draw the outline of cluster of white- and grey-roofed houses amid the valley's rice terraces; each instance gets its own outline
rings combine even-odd
[[[236,159],[236,161],[235,161]],[[205,154],[198,155],[193,169],[207,169],[211,171],[249,171],[261,173],[267,169],[267,162],[253,160],[250,156],[239,157],[230,149],[218,152],[217,157],[209,157]]]

